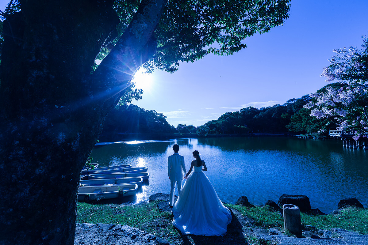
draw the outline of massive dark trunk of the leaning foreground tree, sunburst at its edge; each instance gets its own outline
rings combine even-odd
[[[165,3],[142,3],[156,18],[139,37],[126,31],[94,73],[116,33],[113,1],[21,4],[4,22],[0,67],[0,244],[72,245],[81,169],[107,113],[152,55]]]

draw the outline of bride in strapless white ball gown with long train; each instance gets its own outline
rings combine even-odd
[[[187,180],[172,208],[173,225],[183,234],[223,236],[231,222],[231,212],[222,204],[208,177],[202,172],[207,171],[207,167],[199,152],[194,151],[193,157],[196,160],[192,161],[185,176]]]

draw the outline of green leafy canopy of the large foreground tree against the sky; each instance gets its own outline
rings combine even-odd
[[[194,62],[206,54],[231,55],[245,48],[246,37],[268,32],[288,18],[290,0],[167,1],[155,30],[156,53],[144,68],[174,72],[179,62]],[[119,16],[116,39],[104,47],[102,60],[130,24],[140,1],[117,0]]]

